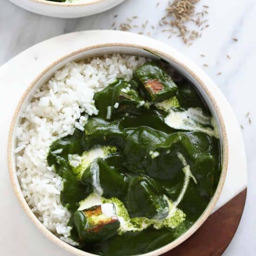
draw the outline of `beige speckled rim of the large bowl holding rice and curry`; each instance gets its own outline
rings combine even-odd
[[[60,64],[62,61],[65,61],[65,60],[67,60],[68,58],[70,58],[72,56],[75,56],[77,54],[81,54],[81,53],[83,53],[85,51],[88,51],[88,50],[99,49],[99,48],[104,48],[104,47],[131,47],[131,48],[146,50],[149,53],[154,53],[154,54],[159,54],[161,56],[164,56],[168,60],[175,63],[177,66],[182,67],[182,69],[184,69],[187,74],[190,74],[195,79],[195,81],[200,85],[200,87],[202,87],[202,89],[205,91],[205,93],[207,94],[207,96],[209,97],[209,100],[211,101],[211,103],[213,105],[213,108],[216,111],[216,115],[217,115],[217,117],[219,119],[219,122],[220,122],[220,130],[221,130],[222,139],[223,139],[223,141],[222,141],[222,172],[221,172],[221,176],[220,176],[219,183],[218,183],[218,186],[216,188],[215,194],[213,195],[212,199],[210,200],[207,208],[204,210],[202,215],[196,220],[196,222],[185,233],[183,233],[181,236],[179,236],[177,239],[175,239],[171,243],[168,243],[167,245],[165,245],[165,246],[163,246],[159,249],[155,249],[154,251],[151,251],[151,252],[148,252],[148,253],[145,253],[145,254],[141,255],[141,256],[158,256],[158,255],[161,255],[161,254],[175,248],[176,246],[178,246],[179,244],[184,242],[186,239],[188,239],[192,234],[195,233],[195,231],[197,229],[199,229],[201,227],[203,222],[205,222],[206,219],[209,217],[209,215],[213,211],[213,209],[216,206],[216,203],[217,203],[217,201],[218,201],[218,199],[221,195],[222,188],[223,188],[223,185],[224,185],[224,182],[225,182],[225,179],[226,179],[226,175],[227,175],[228,158],[229,158],[228,137],[227,137],[223,117],[222,117],[220,108],[218,107],[217,101],[212,96],[209,89],[207,88],[205,83],[202,81],[202,79],[197,74],[195,74],[195,72],[192,70],[193,68],[188,67],[189,65],[180,61],[179,57],[173,57],[170,52],[164,53],[161,50],[156,49],[157,47],[153,48],[153,47],[148,47],[148,46],[135,44],[135,43],[120,43],[120,42],[118,42],[118,43],[94,44],[92,46],[82,47],[82,48],[80,48],[76,51],[73,51],[73,52],[69,53],[69,54],[65,54],[61,58],[57,59],[56,61],[54,61],[50,65],[48,65],[45,69],[43,69],[43,71],[41,71],[41,73],[36,76],[36,78],[27,87],[26,91],[22,94],[22,96],[20,98],[20,101],[18,102],[18,104],[15,108],[13,118],[12,118],[12,121],[11,121],[11,125],[10,125],[10,128],[9,128],[8,141],[7,141],[7,164],[8,164],[8,170],[9,170],[9,175],[10,175],[12,187],[14,189],[14,193],[15,193],[16,197],[18,198],[18,201],[20,202],[20,205],[21,205],[22,209],[25,210],[25,212],[27,213],[27,216],[34,222],[34,224],[37,226],[37,228],[50,241],[56,243],[61,248],[66,249],[67,251],[73,253],[74,255],[95,256],[94,254],[91,254],[91,253],[82,251],[80,249],[77,249],[77,248],[73,247],[72,245],[67,244],[64,241],[62,241],[60,238],[55,236],[50,230],[48,230],[38,220],[38,218],[34,215],[34,213],[32,212],[31,208],[27,204],[27,202],[26,202],[26,200],[25,200],[25,198],[24,198],[24,196],[21,192],[20,183],[19,183],[18,177],[16,175],[16,167],[13,168],[13,157],[15,155],[13,154],[14,152],[12,151],[12,149],[13,149],[12,145],[13,145],[13,135],[14,135],[15,123],[17,121],[17,118],[19,117],[20,109],[21,109],[25,99],[27,98],[27,95],[29,94],[30,90],[40,80],[40,78],[44,74],[46,74],[48,71],[50,71],[52,68],[54,68],[56,65]]]

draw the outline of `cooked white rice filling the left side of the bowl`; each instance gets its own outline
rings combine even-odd
[[[70,213],[60,202],[62,179],[47,166],[49,146],[58,138],[83,130],[88,115],[97,114],[94,93],[116,77],[132,78],[143,57],[105,55],[68,63],[34,94],[16,130],[16,165],[22,193],[40,222],[67,243],[74,244],[67,222]],[[86,116],[81,116],[81,112]]]

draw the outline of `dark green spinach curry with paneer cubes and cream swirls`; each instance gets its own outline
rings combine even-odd
[[[97,255],[137,255],[182,235],[221,174],[215,121],[193,85],[149,62],[94,94],[98,115],[47,161],[63,178],[71,238]]]

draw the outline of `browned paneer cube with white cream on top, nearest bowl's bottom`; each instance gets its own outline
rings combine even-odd
[[[74,213],[74,224],[81,242],[100,242],[114,236],[120,227],[113,203],[103,203]]]

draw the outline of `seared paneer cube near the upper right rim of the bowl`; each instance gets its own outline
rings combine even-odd
[[[177,92],[177,86],[170,75],[154,63],[138,67],[134,72],[141,94],[148,101],[160,102],[169,99]]]

